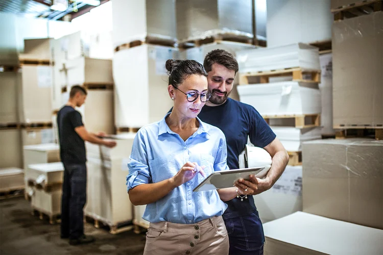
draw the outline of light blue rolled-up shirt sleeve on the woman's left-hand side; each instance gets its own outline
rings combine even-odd
[[[152,182],[149,171],[147,147],[144,132],[138,131],[133,141],[132,153],[130,155],[129,174],[126,177],[127,191],[141,185]]]

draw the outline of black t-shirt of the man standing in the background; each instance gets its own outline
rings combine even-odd
[[[85,142],[75,129],[82,123],[81,114],[73,107],[64,106],[57,113],[60,156],[64,164],[84,164],[86,162]]]

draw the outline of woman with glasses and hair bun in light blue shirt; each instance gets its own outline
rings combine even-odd
[[[223,201],[239,188],[193,192],[213,171],[227,170],[226,140],[197,115],[209,99],[207,73],[194,60],[167,60],[171,113],[142,127],[133,143],[127,189],[133,205],[147,205],[144,254],[228,254]]]

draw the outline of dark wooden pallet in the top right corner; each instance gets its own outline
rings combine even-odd
[[[334,14],[334,20],[343,20],[345,18],[354,18],[382,10],[382,0],[365,0],[331,9],[331,12]]]

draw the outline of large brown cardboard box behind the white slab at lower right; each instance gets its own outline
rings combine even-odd
[[[383,229],[383,141],[303,143],[303,211]]]

